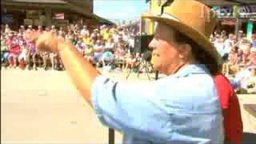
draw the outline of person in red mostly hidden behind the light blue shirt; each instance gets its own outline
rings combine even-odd
[[[242,142],[242,117],[238,97],[228,78],[223,74],[214,75],[224,118],[225,143]]]

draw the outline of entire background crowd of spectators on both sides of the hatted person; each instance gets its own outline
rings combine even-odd
[[[1,26],[1,62],[7,69],[21,68],[37,70],[64,70],[58,54],[38,52],[33,43],[26,39],[26,31],[35,30],[37,34],[52,31],[58,38],[71,42],[83,57],[107,70],[133,70],[142,61],[142,55],[134,51],[134,29],[118,26],[98,26],[89,30],[87,26],[20,26],[18,31]],[[230,78],[237,90],[253,87],[256,83],[256,34],[246,38],[243,31],[237,35],[226,34],[225,30],[214,32],[210,41],[222,56],[222,74]]]

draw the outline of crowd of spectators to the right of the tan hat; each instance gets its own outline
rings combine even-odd
[[[256,34],[246,38],[242,30],[235,34],[214,32],[210,41],[218,50],[223,60],[222,74],[230,78],[231,84],[238,91],[255,91],[256,83]]]

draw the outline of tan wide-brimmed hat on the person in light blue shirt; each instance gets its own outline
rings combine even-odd
[[[142,14],[142,18],[163,22],[174,27],[175,30],[202,46],[218,64],[222,63],[216,48],[209,40],[210,34],[213,33],[218,23],[217,15],[201,2],[174,0],[170,6],[162,6],[161,14]]]

